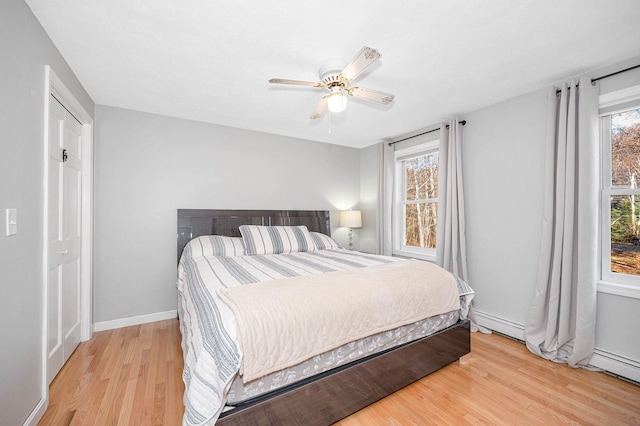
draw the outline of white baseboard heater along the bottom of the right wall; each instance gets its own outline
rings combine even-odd
[[[524,341],[524,325],[482,311],[473,311],[478,325]],[[590,365],[614,375],[640,382],[640,362],[596,348]]]

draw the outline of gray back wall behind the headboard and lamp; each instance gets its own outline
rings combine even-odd
[[[97,106],[94,321],[176,309],[177,209],[337,218],[357,207],[359,161],[353,148]]]

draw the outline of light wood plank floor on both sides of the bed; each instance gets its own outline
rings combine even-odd
[[[461,362],[337,423],[640,425],[640,386],[544,361],[518,342],[473,333]],[[51,384],[41,425],[180,425],[177,320],[95,333]]]

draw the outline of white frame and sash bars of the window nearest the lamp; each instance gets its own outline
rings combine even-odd
[[[436,261],[436,249],[425,247],[407,246],[404,244],[406,236],[406,216],[405,208],[406,200],[406,172],[404,169],[404,161],[422,155],[429,155],[440,152],[440,139],[433,139],[427,142],[421,142],[407,148],[401,148],[394,151],[394,179],[393,179],[393,255],[402,257],[411,257],[415,259]],[[438,199],[420,199],[411,200],[410,204],[421,202],[438,203]],[[436,207],[437,211],[437,207]],[[436,218],[437,220],[437,218]],[[436,234],[436,245],[438,244]]]

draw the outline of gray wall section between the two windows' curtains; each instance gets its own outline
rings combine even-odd
[[[475,309],[524,324],[542,229],[547,89],[466,114],[463,179]]]

